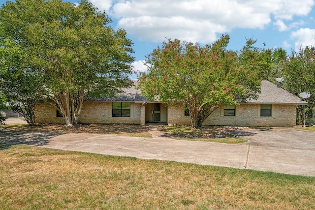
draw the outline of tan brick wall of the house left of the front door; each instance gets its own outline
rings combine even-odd
[[[85,102],[79,116],[80,123],[126,123],[140,124],[142,103],[130,103],[130,117],[113,118],[111,102]],[[55,106],[44,103],[38,106],[35,111],[37,123],[64,123],[63,118],[57,118]]]

